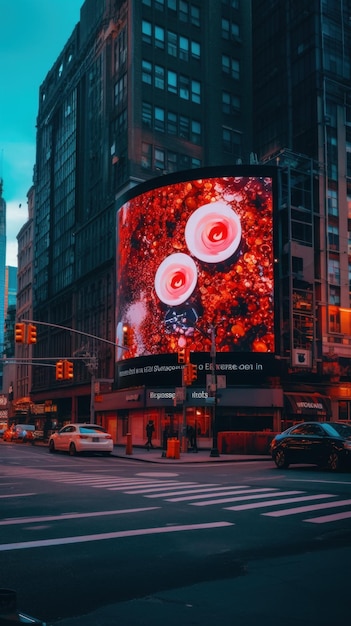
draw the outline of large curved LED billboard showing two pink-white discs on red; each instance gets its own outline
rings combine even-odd
[[[208,353],[211,329],[219,357],[274,353],[273,197],[273,168],[258,166],[129,193],[117,211],[117,361]]]

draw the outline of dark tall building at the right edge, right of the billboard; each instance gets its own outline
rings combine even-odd
[[[281,173],[282,354],[290,384],[324,386],[350,419],[351,2],[252,7],[254,149]]]

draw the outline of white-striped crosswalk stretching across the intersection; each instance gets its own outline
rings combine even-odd
[[[23,477],[23,468],[2,468],[1,478],[16,475]],[[42,471],[27,468],[26,478],[47,480],[71,486],[85,486],[140,495],[148,500],[182,503],[192,507],[221,507],[231,513],[256,511],[268,518],[301,516],[301,521],[328,524],[351,519],[351,498],[343,499],[332,493],[307,493],[304,490],[276,487],[253,487],[245,484],[220,485],[196,481],[169,480],[165,478],[122,478],[76,472]],[[1,483],[0,483],[1,484]],[[32,485],[33,489],[33,485]],[[1,497],[1,496],[0,496]],[[151,504],[151,502],[150,502]]]

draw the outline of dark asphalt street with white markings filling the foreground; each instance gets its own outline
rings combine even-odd
[[[50,626],[329,624],[348,616],[350,487],[350,473],[268,460],[158,466],[0,442],[0,587]]]

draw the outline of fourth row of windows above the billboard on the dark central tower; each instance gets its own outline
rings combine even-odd
[[[167,50],[167,53],[181,61],[189,61],[190,58],[200,58],[200,43],[178,35],[171,30],[165,30],[162,26],[151,24],[143,20],[142,22],[142,39],[144,43],[155,46],[161,50]]]

